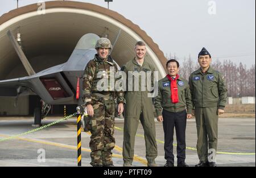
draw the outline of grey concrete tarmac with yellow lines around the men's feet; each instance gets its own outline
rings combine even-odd
[[[47,117],[43,125],[52,123],[61,117]],[[2,140],[12,135],[35,129],[32,117],[0,118],[0,166],[77,166],[76,118],[70,118],[47,127],[46,129],[22,135],[15,139]],[[162,123],[156,124],[158,157],[156,163],[163,166],[164,134]],[[255,167],[255,118],[220,118],[218,123],[218,166],[253,166]],[[90,166],[90,133],[82,132],[82,166]],[[123,119],[115,119],[116,146],[113,150],[115,166],[122,166]],[[187,120],[186,163],[195,166],[197,157],[196,122]],[[176,136],[174,136],[174,155],[176,156]],[[146,166],[146,150],[143,128],[139,124],[135,140],[134,167]],[[45,158],[45,159],[44,159]],[[175,158],[176,164],[176,158]]]

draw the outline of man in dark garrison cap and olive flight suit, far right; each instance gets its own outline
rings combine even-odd
[[[196,167],[216,166],[218,115],[224,113],[227,98],[224,75],[210,67],[211,61],[210,53],[203,48],[198,55],[200,68],[189,77],[196,116],[196,148],[200,160]]]

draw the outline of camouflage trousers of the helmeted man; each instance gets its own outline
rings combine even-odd
[[[113,164],[112,150],[115,147],[114,138],[114,100],[106,98],[94,98],[94,115],[88,119],[87,129],[92,134],[90,136],[90,158],[91,165]]]

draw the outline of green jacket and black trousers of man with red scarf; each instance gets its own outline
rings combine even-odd
[[[164,158],[172,164],[174,164],[174,128],[177,140],[177,164],[185,162],[187,114],[192,114],[193,107],[188,81],[179,77],[176,80],[176,84],[179,97],[179,102],[176,104],[171,100],[171,81],[167,76],[159,80],[158,96],[155,97],[156,115],[162,115],[164,119]]]

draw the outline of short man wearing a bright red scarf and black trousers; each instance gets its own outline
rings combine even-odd
[[[177,167],[188,167],[185,163],[185,130],[187,118],[192,118],[192,101],[188,81],[178,74],[179,63],[175,59],[166,63],[167,76],[159,80],[155,111],[164,129],[164,167],[174,167],[174,127],[177,138]],[[163,109],[163,111],[162,111]],[[186,110],[187,109],[187,110]]]

